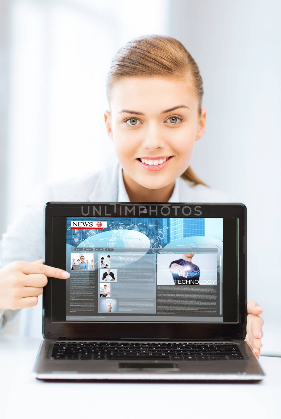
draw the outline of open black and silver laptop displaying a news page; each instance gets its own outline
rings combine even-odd
[[[43,260],[70,278],[44,288],[33,375],[262,380],[244,341],[246,211],[241,203],[48,202]],[[82,255],[93,270],[71,270]]]

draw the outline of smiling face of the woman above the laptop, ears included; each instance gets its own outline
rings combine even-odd
[[[136,77],[115,83],[111,113],[105,112],[107,132],[123,170],[135,182],[158,189],[186,170],[205,130],[206,111],[199,116],[198,106],[184,81]]]

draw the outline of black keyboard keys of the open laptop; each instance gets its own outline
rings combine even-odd
[[[55,342],[52,360],[243,360],[237,344],[180,342]]]

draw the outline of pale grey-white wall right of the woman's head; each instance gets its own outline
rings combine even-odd
[[[174,0],[169,15],[204,83],[207,129],[191,166],[248,208],[248,299],[281,354],[281,3]]]

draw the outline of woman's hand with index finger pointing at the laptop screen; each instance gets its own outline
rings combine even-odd
[[[0,269],[0,308],[17,310],[33,307],[38,295],[47,285],[47,277],[67,279],[70,274],[62,269],[36,262],[12,262]]]

